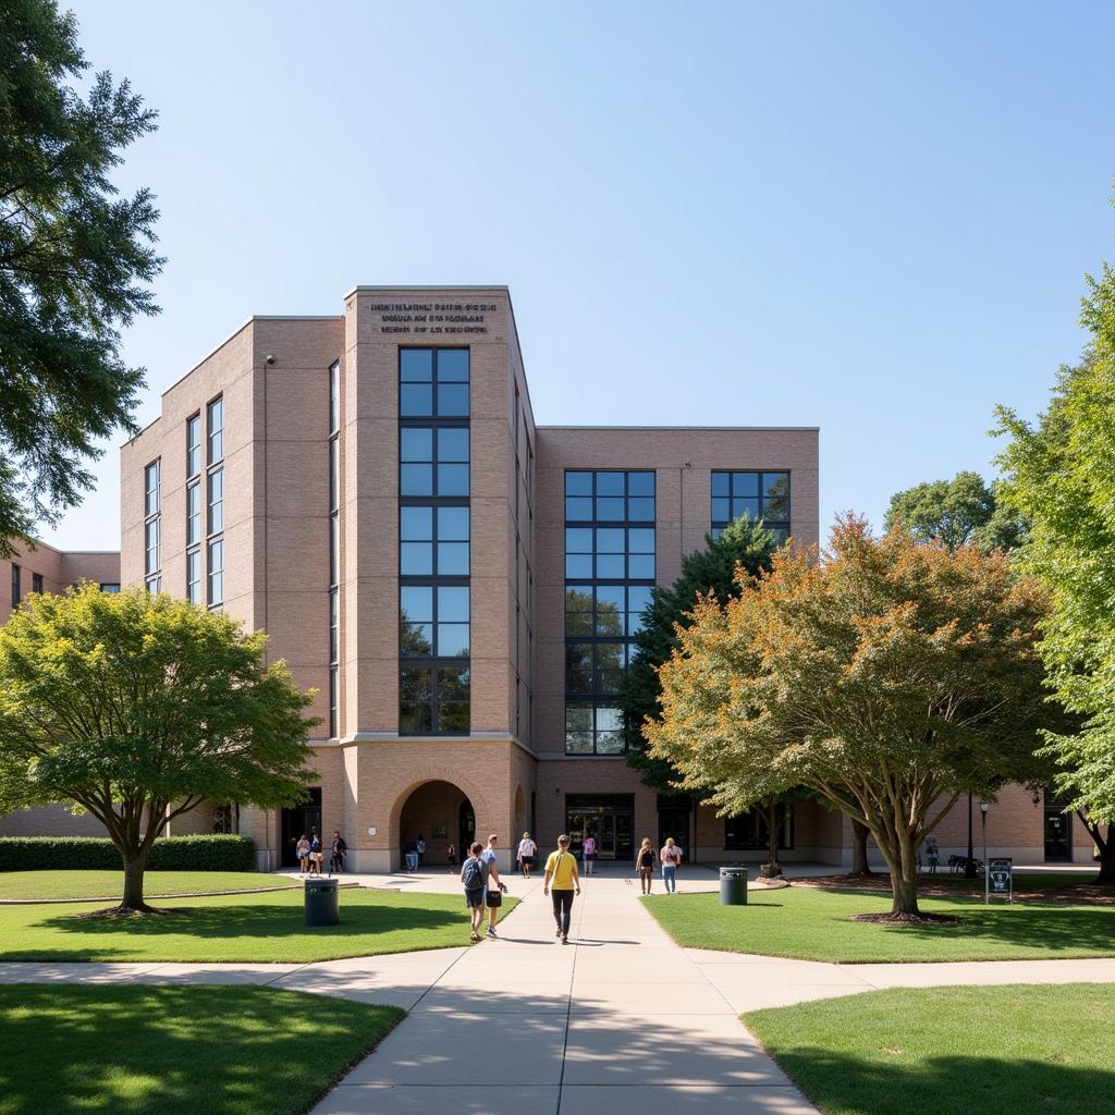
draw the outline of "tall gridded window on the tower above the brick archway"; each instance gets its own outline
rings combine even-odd
[[[468,349],[399,350],[399,731],[469,730]]]

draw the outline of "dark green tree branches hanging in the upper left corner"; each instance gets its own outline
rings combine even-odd
[[[155,129],[127,81],[66,83],[89,68],[54,0],[0,3],[0,558],[94,483],[97,440],[134,433],[143,369],[120,327],[157,312],[162,270],[149,191],[119,197],[109,172]]]

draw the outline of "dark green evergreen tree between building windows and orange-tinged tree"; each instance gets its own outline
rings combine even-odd
[[[712,593],[721,604],[743,591],[737,568],[755,575],[770,568],[777,543],[762,523],[741,517],[718,537],[705,536],[705,549],[681,559],[681,574],[669,588],[656,588],[640,617],[634,652],[620,686],[624,714],[628,763],[643,783],[666,794],[678,793],[678,773],[662,758],[647,754],[643,721],[661,712],[658,668],[678,646],[677,628],[686,627],[701,593]],[[598,605],[599,607],[599,605]]]

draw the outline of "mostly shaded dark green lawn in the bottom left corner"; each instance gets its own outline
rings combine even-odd
[[[0,1115],[294,1115],[403,1016],[262,987],[0,987]]]

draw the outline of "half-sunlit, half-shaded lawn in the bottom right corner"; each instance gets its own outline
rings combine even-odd
[[[744,1021],[824,1115],[1115,1115],[1111,985],[903,988]]]

